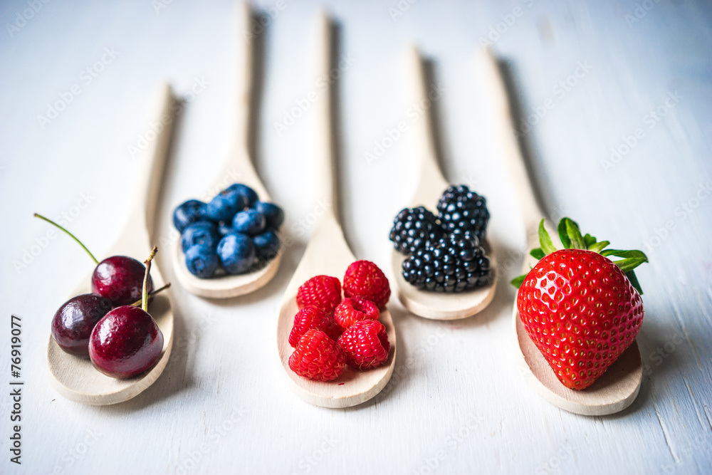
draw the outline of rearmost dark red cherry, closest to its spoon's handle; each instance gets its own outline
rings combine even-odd
[[[127,256],[111,256],[96,266],[91,276],[94,293],[108,298],[115,307],[130,305],[141,298],[146,266]],[[148,278],[148,293],[153,281]]]

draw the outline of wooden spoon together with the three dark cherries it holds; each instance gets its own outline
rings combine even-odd
[[[173,311],[165,291],[169,284],[164,285],[158,268],[151,273],[156,249],[151,252],[150,230],[175,105],[170,86],[161,85],[153,117],[164,128],[147,150],[144,171],[137,179],[140,194],[111,257],[99,262],[66,229],[36,215],[70,234],[97,264],[52,321],[47,364],[53,387],[69,400],[90,405],[130,400],[157,380],[171,354]],[[135,259],[150,252],[146,266]]]

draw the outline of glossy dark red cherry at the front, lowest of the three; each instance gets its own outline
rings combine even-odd
[[[89,338],[89,356],[105,375],[127,378],[155,365],[163,350],[163,333],[148,312],[120,306],[104,315]]]

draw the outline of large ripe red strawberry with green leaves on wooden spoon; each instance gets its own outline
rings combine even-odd
[[[540,261],[521,278],[517,308],[556,377],[566,387],[583,390],[606,372],[640,330],[642,291],[633,268],[647,257],[641,251],[604,250],[608,241],[581,236],[568,218],[559,224],[567,249],[556,250],[543,224],[541,248],[532,251]],[[606,256],[624,259],[613,262]]]

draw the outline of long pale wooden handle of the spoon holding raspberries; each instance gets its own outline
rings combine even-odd
[[[321,11],[317,19],[317,57],[315,80],[317,97],[314,101],[316,191],[317,198],[328,205],[324,216],[336,219],[338,206],[335,187],[335,137],[333,128],[333,29],[328,14]]]

